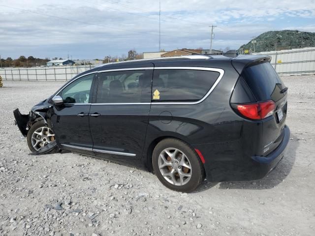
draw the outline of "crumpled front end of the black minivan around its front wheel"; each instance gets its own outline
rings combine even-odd
[[[19,111],[19,109],[16,109],[13,111],[13,115],[15,118],[15,124],[18,126],[19,130],[21,131],[22,135],[24,137],[27,137],[28,145],[30,149],[32,150],[32,153],[30,155],[41,155],[46,154],[49,152],[56,152],[59,151],[59,148],[57,147],[57,143],[55,139],[53,139],[53,142],[42,142],[42,145],[38,148],[38,142],[41,142],[42,140],[47,141],[45,133],[36,133],[34,130],[31,129],[31,127],[37,123],[40,122],[42,126],[50,127],[51,128],[51,108],[52,105],[48,103],[47,100],[44,100],[37,105],[35,105],[30,113],[28,115],[23,115]],[[38,124],[38,123],[37,123]],[[30,132],[32,130],[32,134]],[[34,135],[35,133],[35,135]],[[36,148],[34,144],[36,143]],[[33,148],[32,148],[33,147]]]

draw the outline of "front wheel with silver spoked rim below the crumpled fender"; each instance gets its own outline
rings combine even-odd
[[[30,128],[27,135],[28,146],[32,152],[55,141],[55,134],[51,128],[42,122],[36,122]]]

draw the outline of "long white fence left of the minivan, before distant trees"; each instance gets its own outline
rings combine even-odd
[[[74,76],[94,68],[95,65],[80,66],[47,66],[31,68],[4,68],[0,69],[3,80],[23,81],[67,81]]]

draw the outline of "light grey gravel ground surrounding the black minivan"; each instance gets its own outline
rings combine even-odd
[[[74,153],[29,156],[12,111],[28,113],[61,82],[0,88],[0,235],[315,235],[315,76],[289,88],[285,159],[252,182],[206,183],[194,193],[156,176]]]

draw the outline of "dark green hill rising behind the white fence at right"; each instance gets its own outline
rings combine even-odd
[[[252,40],[256,40],[255,52],[275,51],[276,44],[277,51],[292,48],[315,47],[315,33],[298,30],[268,31]],[[242,45],[239,50],[251,50],[252,48],[253,51],[252,40]]]

